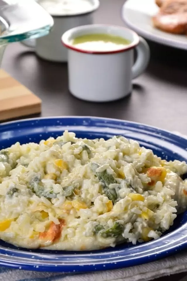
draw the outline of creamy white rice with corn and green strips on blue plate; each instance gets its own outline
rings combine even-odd
[[[0,238],[57,250],[157,239],[186,210],[186,172],[122,136],[16,143],[0,151]]]

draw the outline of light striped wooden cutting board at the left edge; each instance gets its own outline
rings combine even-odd
[[[0,121],[41,112],[41,100],[0,69]]]

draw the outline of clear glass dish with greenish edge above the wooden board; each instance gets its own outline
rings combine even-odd
[[[0,66],[7,44],[45,36],[53,27],[53,18],[35,1],[11,1],[0,6]]]

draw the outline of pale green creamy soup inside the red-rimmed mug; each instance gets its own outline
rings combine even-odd
[[[72,44],[77,48],[98,52],[120,50],[130,43],[129,40],[123,37],[105,33],[85,34],[72,40]]]

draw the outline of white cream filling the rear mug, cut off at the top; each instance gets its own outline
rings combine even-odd
[[[90,12],[93,4],[89,0],[38,0],[51,15],[70,16]]]

